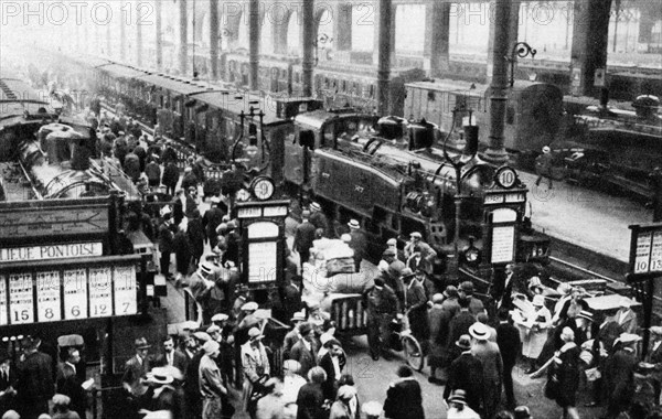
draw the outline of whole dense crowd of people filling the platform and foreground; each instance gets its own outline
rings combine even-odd
[[[157,243],[160,273],[183,288],[203,314],[202,323],[185,322],[180,334],[159,342],[156,354],[145,337],[136,340],[121,378],[121,417],[217,419],[241,409],[259,419],[425,418],[424,394],[408,366],[397,368],[383,402],[361,400],[361,382],[345,370],[337,325],[319,302],[303,298],[302,270],[314,264],[320,240],[340,237],[351,250],[350,271],[362,269],[371,249],[359,221],[334,224],[316,202],[302,211],[285,278],[269,294],[270,316],[291,330],[269,339],[258,304],[237,291],[241,235],[228,216],[229,200],[213,191],[201,214],[207,197],[199,197],[205,183],[201,162],[189,159],[180,176],[178,155],[158,129],[154,138],[145,136],[121,108],[116,117],[100,108],[95,112],[99,155],[115,160],[145,191],[170,195],[154,198],[151,207],[131,206],[126,228]],[[600,318],[589,310],[583,289],[562,283],[551,290],[513,265],[492,296],[479,298],[472,282],[452,282],[444,273],[444,257],[423,234],[413,232],[399,245],[395,238],[384,244],[378,273],[363,290],[370,355],[392,357],[391,327],[403,321],[421,344],[428,382],[444,386],[439,396],[447,418],[532,418],[515,397],[516,366],[532,378],[546,375],[544,395],[564,418],[579,417],[581,384],[590,395],[587,405],[602,406],[606,418],[654,415],[662,388],[662,327],[651,327],[648,357],[639,362],[641,331],[630,299],[622,299],[615,315]],[[53,370],[38,343],[23,347],[15,366],[0,354],[3,418],[85,418],[79,352],[66,351]]]

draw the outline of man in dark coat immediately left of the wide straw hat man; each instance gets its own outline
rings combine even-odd
[[[463,334],[455,343],[461,351],[448,368],[448,383],[444,390],[444,398],[448,399],[450,393],[463,389],[466,400],[473,410],[480,410],[483,400],[483,368],[480,361],[471,353],[471,337]]]

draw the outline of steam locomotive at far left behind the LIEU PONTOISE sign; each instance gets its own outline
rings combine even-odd
[[[120,168],[92,159],[96,133],[89,126],[60,118],[20,79],[0,78],[0,201],[105,196],[114,190],[128,200],[140,196]]]

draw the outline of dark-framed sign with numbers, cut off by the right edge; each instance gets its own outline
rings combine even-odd
[[[631,225],[630,229],[630,273],[662,275],[662,223]]]

